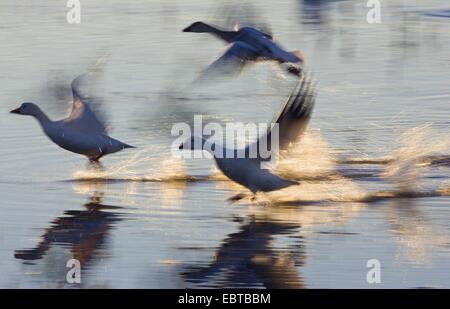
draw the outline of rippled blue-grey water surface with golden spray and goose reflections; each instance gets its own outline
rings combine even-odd
[[[64,4],[2,1],[0,286],[450,287],[448,3],[383,2],[371,25],[363,2],[248,2],[304,51],[319,89],[310,131],[279,166],[301,185],[229,204],[245,191],[211,160],[173,158],[173,123],[267,122],[295,84],[272,64],[192,83],[224,46],[181,29],[226,25],[230,7],[89,1],[70,25]],[[88,71],[112,136],[138,146],[103,172],[8,114],[33,101],[63,117]],[[66,282],[72,258],[78,285]]]

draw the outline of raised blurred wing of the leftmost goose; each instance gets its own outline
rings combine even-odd
[[[79,83],[84,78],[84,74],[75,78],[71,84],[73,94],[72,112],[64,120],[67,125],[76,126],[77,130],[83,130],[90,133],[107,134],[106,126],[101,122],[89,103],[85,102],[79,93]]]

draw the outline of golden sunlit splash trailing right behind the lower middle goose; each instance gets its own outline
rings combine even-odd
[[[300,185],[283,190],[261,193],[256,200],[247,194],[241,201],[257,204],[311,204],[322,202],[374,203],[398,198],[420,198],[449,196],[450,186],[443,184],[437,189],[425,190],[420,180],[436,158],[448,153],[450,139],[431,130],[429,125],[404,132],[397,143],[399,148],[382,157],[365,157],[345,160],[347,164],[376,164],[382,169],[370,172],[372,177],[382,176],[393,185],[391,189],[367,190],[353,181],[351,175],[342,169],[344,161],[338,160],[335,152],[320,136],[318,131],[309,130],[302,140],[294,145],[288,155],[279,162],[277,173],[288,179],[297,179]],[[442,161],[442,160],[441,160]],[[337,169],[338,164],[340,169]],[[221,179],[215,176],[215,179]],[[380,183],[382,185],[382,183]],[[242,187],[232,186],[237,190]]]

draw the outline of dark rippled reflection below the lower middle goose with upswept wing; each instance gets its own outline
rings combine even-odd
[[[208,287],[302,288],[296,267],[304,263],[303,246],[297,244],[291,251],[272,248],[275,236],[296,229],[282,221],[252,220],[225,239],[213,262],[189,267],[182,275],[188,283]]]

